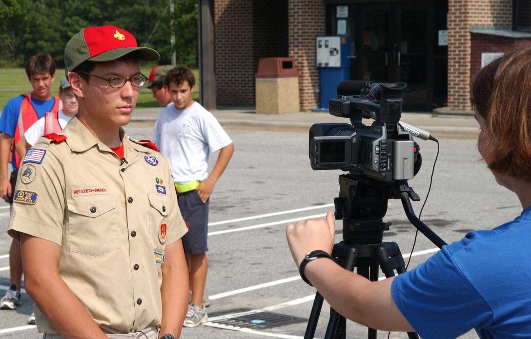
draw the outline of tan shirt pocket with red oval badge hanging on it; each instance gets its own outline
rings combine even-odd
[[[159,193],[148,194],[149,198],[149,233],[153,250],[164,253],[168,237],[168,215],[170,200]]]

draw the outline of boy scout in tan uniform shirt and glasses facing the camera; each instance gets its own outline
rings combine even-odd
[[[82,29],[66,46],[79,112],[28,150],[8,230],[21,241],[43,338],[181,334],[187,227],[172,173],[156,147],[121,128],[147,80],[139,60],[158,58],[114,26]]]

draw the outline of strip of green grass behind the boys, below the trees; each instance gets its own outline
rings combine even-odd
[[[141,72],[142,74],[149,76],[151,67],[141,67]],[[198,69],[192,69],[192,72],[194,73],[195,81],[197,82],[199,79],[199,71]],[[59,76],[62,77],[63,74],[63,69],[57,69],[55,72],[57,79],[52,84],[53,95],[57,95],[59,81],[61,81]],[[31,91],[31,84],[28,81],[28,77],[26,76],[24,68],[0,68],[0,79],[2,79],[2,81],[0,81],[0,109],[4,108],[7,100],[16,97],[16,95],[21,93],[27,93]],[[192,94],[192,99],[196,101],[199,100],[199,84],[197,83],[195,84],[195,90]],[[140,89],[140,96],[138,98],[138,102],[136,103],[136,107],[159,107],[159,103],[157,100],[153,99],[151,90],[144,87]]]

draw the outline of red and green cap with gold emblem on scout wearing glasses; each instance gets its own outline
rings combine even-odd
[[[113,25],[82,28],[66,44],[65,71],[71,72],[87,60],[113,61],[132,52],[138,53],[142,61],[160,59],[155,49],[138,47],[133,34],[124,29]]]

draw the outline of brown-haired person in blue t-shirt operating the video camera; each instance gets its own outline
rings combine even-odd
[[[414,270],[371,282],[326,257],[303,274],[341,315],[385,331],[455,338],[531,335],[531,47],[479,71],[471,86],[481,129],[477,147],[496,181],[514,192],[523,211],[492,230],[469,232]],[[331,253],[333,213],[286,228],[295,263],[314,250]]]

